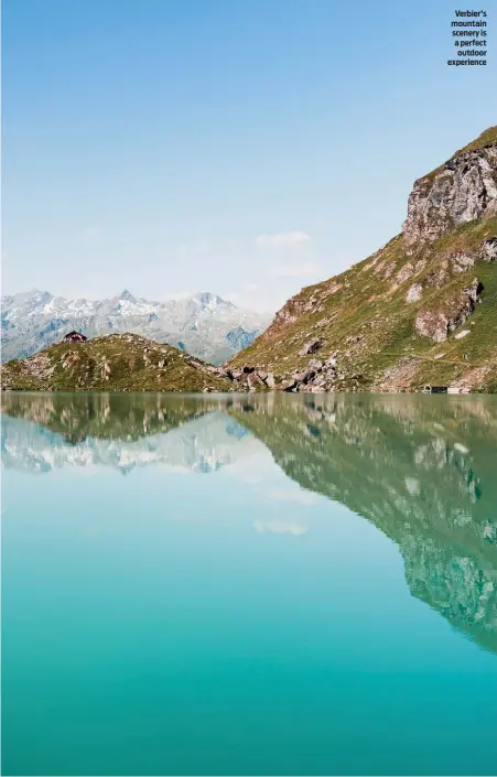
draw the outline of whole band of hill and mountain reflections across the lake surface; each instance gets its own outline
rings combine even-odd
[[[2,463],[209,473],[260,446],[393,540],[413,596],[497,652],[497,398],[20,395]]]

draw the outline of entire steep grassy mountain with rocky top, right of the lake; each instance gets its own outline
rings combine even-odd
[[[497,127],[414,183],[400,235],[303,289],[227,366],[293,391],[497,391]]]

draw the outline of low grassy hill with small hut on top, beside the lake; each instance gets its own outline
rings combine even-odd
[[[233,391],[198,359],[129,334],[60,343],[9,361],[1,376],[6,388],[34,391]]]

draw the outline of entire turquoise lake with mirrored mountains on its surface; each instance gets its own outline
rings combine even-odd
[[[496,397],[9,393],[2,464],[2,774],[496,774]]]

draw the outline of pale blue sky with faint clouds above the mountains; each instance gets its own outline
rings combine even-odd
[[[454,0],[3,0],[2,293],[273,311],[364,259],[496,123],[491,6],[455,68]]]

